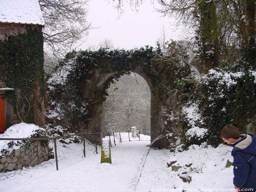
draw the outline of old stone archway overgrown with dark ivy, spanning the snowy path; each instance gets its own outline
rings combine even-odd
[[[123,74],[137,73],[142,76],[151,90],[151,140],[166,131],[175,132],[166,114],[170,110],[168,102],[173,102],[172,84],[177,78],[187,75],[186,66],[182,69],[165,62],[160,49],[145,47],[134,50],[80,51],[67,54],[60,65],[65,80],[48,80],[51,99],[57,98],[66,110],[65,122],[71,122],[76,130],[89,132],[104,131],[103,101],[106,90],[114,80]],[[177,61],[176,61],[177,62]],[[59,71],[57,74],[59,75]],[[63,83],[64,82],[64,83]],[[52,109],[56,108],[54,102]],[[72,106],[68,107],[70,103]],[[175,103],[175,102],[173,102]],[[75,107],[73,107],[75,106]],[[72,109],[71,109],[72,108]],[[81,110],[82,109],[82,110]],[[63,117],[60,118],[63,121]],[[75,126],[74,126],[75,125]],[[91,140],[99,142],[100,138]],[[165,147],[163,142],[156,143]]]

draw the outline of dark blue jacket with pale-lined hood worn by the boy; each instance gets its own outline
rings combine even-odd
[[[233,184],[240,188],[253,188],[256,191],[256,138],[241,135],[242,139],[231,144],[233,161]]]

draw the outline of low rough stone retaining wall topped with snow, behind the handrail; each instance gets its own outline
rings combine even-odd
[[[0,173],[38,165],[52,158],[52,149],[46,141],[32,141],[28,147],[13,150],[0,157]]]

